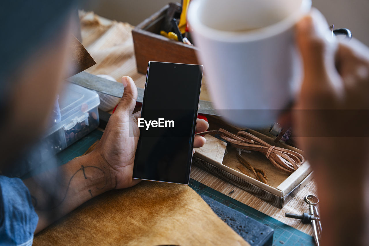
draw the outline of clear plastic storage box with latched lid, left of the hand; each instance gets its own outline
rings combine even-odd
[[[58,153],[99,126],[99,95],[92,90],[68,83],[58,99],[60,117],[54,118],[45,141]]]

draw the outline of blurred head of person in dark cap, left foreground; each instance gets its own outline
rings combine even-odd
[[[60,93],[72,38],[73,1],[2,3],[0,10],[0,163],[42,136]]]

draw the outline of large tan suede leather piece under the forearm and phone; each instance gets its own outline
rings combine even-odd
[[[34,245],[249,244],[189,186],[142,181],[87,201],[35,235]]]

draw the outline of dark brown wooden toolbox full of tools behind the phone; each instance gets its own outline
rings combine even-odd
[[[137,70],[146,74],[149,61],[199,64],[196,47],[160,35],[169,5],[151,15],[132,30]]]

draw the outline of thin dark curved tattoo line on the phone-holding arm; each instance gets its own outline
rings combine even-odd
[[[47,210],[52,210],[52,209],[54,209],[54,208],[56,208],[56,207],[58,207],[58,206],[60,206],[62,203],[63,203],[63,201],[65,200],[65,198],[66,198],[66,196],[67,196],[67,194],[68,194],[68,190],[69,190],[69,186],[70,186],[70,183],[72,182],[72,179],[75,177],[75,175],[79,172],[79,171],[82,171],[83,172],[83,176],[85,177],[85,179],[87,179],[87,177],[86,177],[86,173],[85,173],[85,170],[86,169],[98,169],[99,171],[101,171],[103,174],[104,174],[104,177],[106,178],[105,179],[105,184],[104,184],[104,186],[103,187],[96,187],[96,189],[97,190],[101,190],[101,189],[103,189],[103,188],[105,188],[106,187],[106,185],[107,185],[107,183],[108,183],[108,178],[106,177],[106,175],[105,175],[105,172],[102,170],[102,169],[100,169],[99,167],[95,167],[95,166],[81,166],[81,168],[80,169],[78,169],[73,175],[72,175],[72,177],[70,177],[70,179],[69,179],[69,182],[68,182],[68,186],[67,186],[67,188],[66,188],[66,191],[65,191],[65,194],[64,194],[64,197],[62,198],[62,200],[61,201],[55,201],[55,198],[54,197],[51,197],[50,198],[50,201],[49,201],[49,206],[47,206],[47,207],[45,207],[45,208],[39,208],[38,207],[38,202],[37,202],[37,199],[36,199],[36,197],[34,197],[33,195],[31,195],[31,198],[32,198],[32,203],[33,203],[33,205],[34,205],[34,207],[35,207],[35,209],[36,210],[39,210],[39,211],[47,211]],[[90,193],[90,195],[91,195],[91,197],[93,197],[93,195],[92,195],[92,192],[91,192],[91,190],[88,190],[88,192]]]

